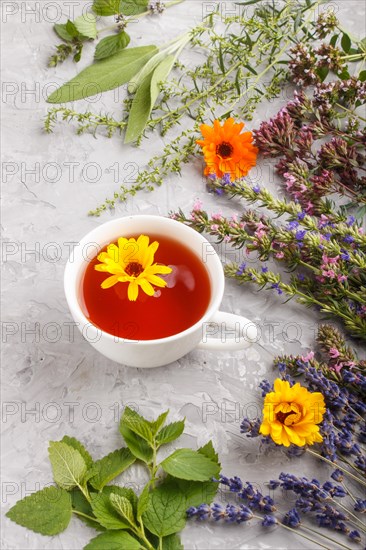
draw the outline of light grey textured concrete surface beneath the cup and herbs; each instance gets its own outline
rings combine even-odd
[[[186,1],[163,18],[136,24],[133,44],[161,43],[202,18],[207,3]],[[222,3],[224,5],[225,3]],[[243,314],[261,327],[258,344],[247,352],[193,351],[176,363],[152,370],[119,366],[71,330],[71,316],[63,293],[63,270],[72,243],[108,219],[131,213],[167,215],[178,206],[188,211],[200,197],[210,211],[240,212],[240,204],[208,196],[199,164],[184,168],[150,194],[135,197],[99,219],[87,211],[110,196],[118,182],[129,182],[152,151],[166,138],[145,140],[139,149],[123,146],[118,137],[78,137],[66,124],[48,136],[42,131],[47,111],[45,97],[52,83],[75,75],[91,59],[92,48],[79,66],[71,62],[46,67],[52,44],[57,43],[52,22],[81,12],[83,2],[53,0],[3,1],[3,216],[6,255],[3,258],[3,446],[2,511],[19,498],[51,481],[47,458],[49,440],[64,434],[78,437],[95,458],[120,446],[117,430],[123,406],[134,404],[148,417],[167,408],[171,418],[186,417],[180,444],[202,445],[213,439],[223,472],[240,475],[263,487],[264,480],[282,470],[326,475],[313,461],[290,461],[281,451],[268,453],[257,441],[239,433],[243,413],[261,406],[257,389],[263,378],[273,378],[272,359],[281,352],[303,352],[312,346],[320,317],[295,302],[249,286],[227,282],[222,309]],[[232,8],[226,4],[226,8]],[[364,35],[362,1],[337,1],[332,6],[343,25]],[[32,13],[32,10],[35,10]],[[105,110],[120,112],[113,93],[103,97]],[[265,106],[248,124],[274,113],[284,99]],[[84,105],[85,106],[85,105]],[[91,109],[99,109],[100,105]],[[83,105],[76,106],[82,110]],[[263,167],[264,177],[268,168]],[[266,172],[267,169],[267,172]],[[268,178],[266,178],[268,179]],[[275,178],[268,185],[275,190]],[[225,251],[220,250],[223,260]],[[232,258],[231,258],[232,259]],[[172,448],[174,445],[172,446]],[[121,483],[139,490],[143,471],[133,468]],[[264,487],[263,487],[264,488]],[[64,533],[42,537],[7,519],[3,520],[4,549],[79,549],[94,532],[72,519]],[[311,548],[279,530],[246,526],[190,523],[182,539],[187,549],[298,549]]]

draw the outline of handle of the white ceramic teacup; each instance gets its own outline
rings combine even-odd
[[[215,336],[220,335],[219,338]],[[213,318],[202,326],[199,349],[211,351],[246,349],[258,339],[258,329],[245,317],[217,311]]]

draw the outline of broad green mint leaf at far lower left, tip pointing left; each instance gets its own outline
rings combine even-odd
[[[72,515],[69,493],[57,487],[45,487],[10,508],[6,516],[42,535],[57,535],[69,525]]]

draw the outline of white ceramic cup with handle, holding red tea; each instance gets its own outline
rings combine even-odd
[[[211,284],[211,298],[201,319],[183,332],[157,340],[128,340],[94,326],[80,306],[85,269],[101,249],[121,236],[169,235],[184,242],[204,262]],[[104,223],[88,233],[67,261],[65,294],[71,314],[84,338],[100,353],[130,367],[159,367],[176,361],[194,348],[241,350],[257,340],[256,325],[239,315],[219,311],[225,277],[213,246],[195,230],[162,216],[127,216]],[[215,337],[220,335],[219,338]]]

